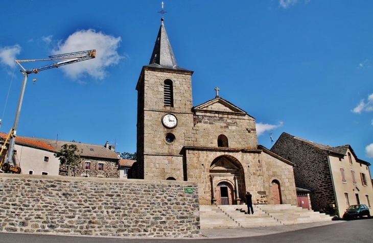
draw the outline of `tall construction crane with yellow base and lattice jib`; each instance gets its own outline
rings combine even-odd
[[[10,171],[16,174],[21,173],[21,168],[17,164],[17,161],[15,158],[14,158],[14,165],[13,165],[12,157],[13,157],[14,143],[15,143],[15,137],[16,137],[16,132],[17,132],[17,126],[18,126],[18,119],[19,119],[19,114],[21,111],[22,100],[24,99],[27,77],[30,74],[37,74],[39,71],[43,71],[43,70],[47,70],[47,69],[51,69],[55,67],[58,68],[60,66],[64,66],[64,65],[68,65],[68,64],[72,64],[76,62],[81,62],[81,61],[89,60],[92,58],[96,58],[96,50],[88,50],[88,51],[53,55],[53,56],[49,56],[49,59],[15,60],[15,62],[22,68],[20,71],[24,75],[24,79],[22,81],[22,86],[21,86],[21,90],[19,93],[18,106],[17,106],[17,110],[15,113],[13,127],[10,129],[9,134],[7,138],[5,139],[5,142],[2,146],[2,149],[0,150],[0,158],[1,158],[3,152],[5,152],[6,143],[9,140],[9,147],[8,147],[8,153],[6,156],[6,162],[3,164],[5,156],[3,156],[0,159],[0,167],[3,169],[3,171],[5,172]],[[32,68],[32,69],[25,69],[20,64],[20,62],[51,61],[51,60],[65,60],[65,61],[53,62],[51,64],[40,66],[37,68]]]

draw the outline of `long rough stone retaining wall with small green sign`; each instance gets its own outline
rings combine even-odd
[[[0,175],[0,232],[194,237],[197,184]],[[192,187],[193,193],[185,193]]]

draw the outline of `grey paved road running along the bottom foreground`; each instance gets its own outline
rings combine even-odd
[[[0,243],[147,243],[147,242],[373,242],[373,218],[351,221],[322,222],[290,226],[202,230],[196,238],[154,238],[154,237],[84,237],[0,233]],[[234,239],[232,239],[234,238]]]

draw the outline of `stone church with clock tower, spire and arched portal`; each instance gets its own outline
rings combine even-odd
[[[294,164],[258,145],[255,119],[222,99],[193,106],[193,71],[177,65],[164,19],[137,90],[132,178],[198,183],[200,205],[297,205]]]

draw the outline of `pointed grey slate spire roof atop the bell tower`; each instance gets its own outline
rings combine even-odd
[[[171,43],[168,38],[163,19],[161,19],[160,28],[158,31],[157,39],[153,49],[152,56],[150,58],[150,67],[186,70],[177,65],[174,52],[172,51]]]

